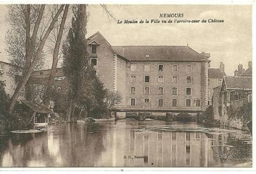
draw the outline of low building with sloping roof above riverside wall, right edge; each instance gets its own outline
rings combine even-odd
[[[252,77],[224,76],[220,88],[221,105],[239,107],[252,101]]]

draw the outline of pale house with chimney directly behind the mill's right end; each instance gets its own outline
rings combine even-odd
[[[220,62],[220,68],[208,68],[208,106],[212,105],[213,88],[220,86],[223,80],[223,76],[226,76],[224,70],[225,65],[223,62]]]

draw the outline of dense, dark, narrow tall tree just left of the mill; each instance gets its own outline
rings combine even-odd
[[[70,83],[70,107],[67,113],[68,121],[76,105],[76,99],[82,85],[84,72],[89,67],[89,57],[86,51],[86,5],[73,6],[73,18],[68,36],[63,44],[63,71]]]

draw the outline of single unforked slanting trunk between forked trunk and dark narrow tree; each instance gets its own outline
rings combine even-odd
[[[46,87],[46,93],[45,93],[45,98],[44,98],[44,105],[46,105],[46,106],[49,106],[49,104],[50,104],[50,95],[51,95],[51,89],[52,89],[52,85],[53,85],[53,78],[55,76],[56,68],[57,68],[57,64],[58,64],[59,45],[60,45],[60,41],[62,40],[62,34],[63,34],[63,30],[64,30],[66,16],[68,15],[68,11],[69,11],[69,4],[66,4],[64,13],[63,13],[63,17],[62,17],[62,22],[60,23],[60,26],[59,26],[57,41],[56,41],[54,51],[53,51],[52,66],[51,66],[51,71],[50,71],[50,75],[49,75],[49,79],[48,79],[48,83],[47,83],[48,85]]]

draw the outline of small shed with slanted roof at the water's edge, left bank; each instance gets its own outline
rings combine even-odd
[[[33,111],[33,124],[48,124],[50,114],[53,113],[51,109],[37,101],[21,100],[21,102]]]

